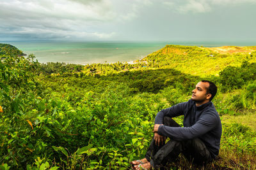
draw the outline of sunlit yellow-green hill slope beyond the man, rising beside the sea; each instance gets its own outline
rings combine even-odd
[[[227,66],[240,66],[243,60],[255,62],[256,58],[250,54],[255,50],[256,46],[206,48],[166,45],[143,60],[202,77],[209,74],[218,75]]]

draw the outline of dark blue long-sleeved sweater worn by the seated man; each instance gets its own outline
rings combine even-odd
[[[161,110],[156,115],[155,124],[163,124],[164,117],[184,115],[184,127],[160,125],[158,134],[168,136],[176,141],[199,138],[211,153],[212,158],[219,154],[221,138],[221,121],[214,105],[209,103],[196,107],[195,101],[179,103],[171,108]]]

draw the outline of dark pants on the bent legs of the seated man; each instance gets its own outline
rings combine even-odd
[[[170,117],[164,117],[164,125],[180,127]],[[198,138],[187,141],[174,141],[170,139],[166,144],[157,146],[153,137],[145,157],[151,166],[156,168],[158,166],[164,166],[167,162],[174,161],[180,153],[196,164],[204,164],[212,160],[209,150],[207,150],[204,143]]]

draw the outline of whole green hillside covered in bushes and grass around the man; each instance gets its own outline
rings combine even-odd
[[[2,169],[127,169],[145,155],[158,111],[218,86],[220,156],[204,167],[256,168],[256,46],[166,45],[134,64],[40,64],[0,44]],[[182,118],[175,118],[182,125]]]

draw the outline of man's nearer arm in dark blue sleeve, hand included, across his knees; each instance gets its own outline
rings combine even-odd
[[[200,117],[198,122],[191,127],[168,127],[165,125],[155,125],[154,132],[163,136],[168,136],[169,138],[177,141],[183,141],[196,138],[208,131],[211,131],[217,123],[218,119],[216,118],[216,115],[205,113]]]

